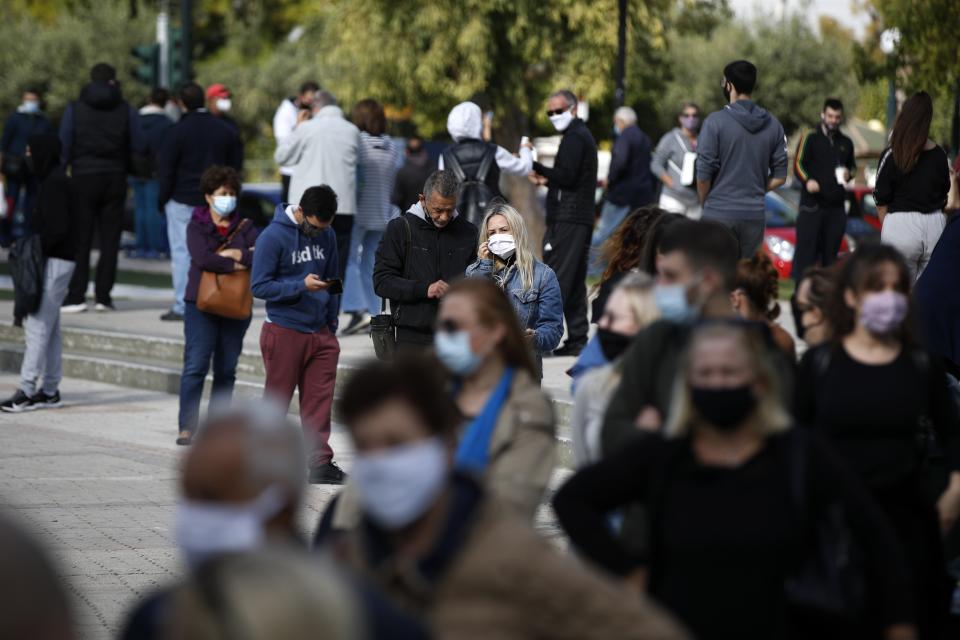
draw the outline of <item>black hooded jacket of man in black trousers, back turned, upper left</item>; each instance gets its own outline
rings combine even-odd
[[[61,160],[73,176],[126,173],[142,153],[140,116],[114,84],[91,82],[67,106],[60,123]]]

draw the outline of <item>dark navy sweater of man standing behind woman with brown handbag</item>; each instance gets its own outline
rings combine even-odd
[[[190,111],[167,132],[158,161],[160,204],[201,206],[200,176],[213,165],[243,167],[240,136],[206,110]]]

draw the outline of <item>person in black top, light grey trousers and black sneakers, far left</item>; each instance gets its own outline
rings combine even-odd
[[[60,140],[53,134],[27,139],[26,161],[39,183],[31,218],[43,248],[43,295],[39,308],[23,320],[26,349],[20,366],[20,388],[0,409],[20,412],[59,407],[62,346],[60,305],[73,275],[78,231],[71,180],[60,168]]]

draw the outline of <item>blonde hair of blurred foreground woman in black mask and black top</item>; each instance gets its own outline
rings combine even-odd
[[[756,374],[756,381],[764,387],[757,398],[757,410],[754,424],[760,435],[768,436],[781,433],[790,428],[792,421],[783,406],[780,377],[770,361],[768,349],[762,336],[746,325],[708,324],[695,329],[690,336],[690,344],[680,361],[677,378],[674,382],[673,402],[670,405],[670,417],[664,427],[667,438],[683,438],[691,435],[699,416],[690,400],[690,366],[692,354],[697,343],[714,338],[733,338],[740,343],[747,354]]]

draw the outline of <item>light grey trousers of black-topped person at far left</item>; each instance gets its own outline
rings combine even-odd
[[[76,263],[72,261],[47,258],[43,269],[40,308],[23,319],[27,346],[20,366],[20,388],[28,396],[37,392],[37,382],[41,376],[45,394],[53,395],[60,387],[63,378],[60,305],[67,297],[75,266]]]

